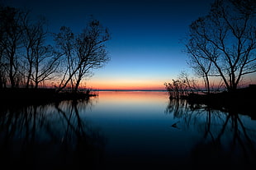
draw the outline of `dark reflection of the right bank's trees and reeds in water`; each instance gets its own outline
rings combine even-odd
[[[244,116],[234,110],[224,113],[206,105],[180,105],[178,101],[170,101],[167,111],[180,119],[181,129],[187,127],[188,131],[197,130],[202,134],[192,149],[193,163],[197,166],[223,163],[231,167],[255,165],[256,128],[246,124]]]

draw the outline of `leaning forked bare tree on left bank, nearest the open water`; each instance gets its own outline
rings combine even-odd
[[[109,61],[105,43],[110,34],[96,20],[89,21],[82,33],[77,35],[68,27],[61,27],[60,30],[59,34],[55,34],[55,42],[65,56],[66,70],[58,91],[70,83],[73,92],[77,92],[84,76]]]

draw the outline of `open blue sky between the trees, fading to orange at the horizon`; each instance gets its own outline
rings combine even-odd
[[[97,90],[164,90],[181,71],[191,72],[182,40],[213,0],[0,0],[45,16],[49,30],[83,30],[90,16],[111,33],[110,62],[83,85]],[[192,74],[192,72],[191,72]]]

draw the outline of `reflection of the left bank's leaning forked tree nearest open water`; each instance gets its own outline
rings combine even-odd
[[[77,164],[83,164],[84,159],[88,160],[89,163],[100,161],[95,159],[102,159],[105,140],[98,133],[99,131],[92,131],[92,127],[88,126],[88,122],[84,122],[81,119],[78,113],[77,101],[72,101],[69,105],[69,111],[64,111],[64,109],[55,105],[62,120],[67,124],[62,138],[63,147],[70,149],[70,141],[72,141],[73,148],[71,150],[75,152],[73,159]],[[95,154],[97,158],[94,158]]]

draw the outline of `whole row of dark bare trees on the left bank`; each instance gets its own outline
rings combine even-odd
[[[58,92],[67,87],[77,92],[83,78],[110,59],[105,45],[110,34],[95,19],[78,34],[61,25],[59,33],[50,33],[44,17],[0,6],[0,21],[1,89],[55,86]]]

